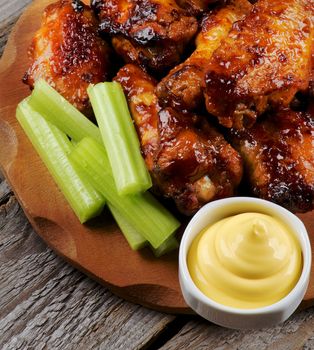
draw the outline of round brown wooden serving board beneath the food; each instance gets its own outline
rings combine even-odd
[[[30,94],[21,79],[27,49],[51,0],[35,0],[17,22],[0,61],[0,165],[36,232],[70,264],[117,295],[159,311],[190,313],[178,282],[177,252],[156,259],[133,252],[110,214],[81,225],[16,121]],[[314,212],[302,214],[314,246]],[[303,307],[314,304],[314,270]]]

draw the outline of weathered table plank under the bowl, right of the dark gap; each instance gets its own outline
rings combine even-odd
[[[162,350],[301,350],[314,349],[314,310],[295,314],[282,325],[256,331],[237,331],[201,320],[187,323]]]

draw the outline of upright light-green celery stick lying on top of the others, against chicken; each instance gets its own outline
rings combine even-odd
[[[109,157],[119,195],[152,186],[140,144],[119,83],[100,83],[87,90]]]

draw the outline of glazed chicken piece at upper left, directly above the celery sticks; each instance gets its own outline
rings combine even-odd
[[[29,49],[32,64],[23,81],[33,88],[43,78],[87,112],[88,85],[108,80],[110,75],[110,50],[97,30],[93,12],[82,2],[61,0],[49,5]]]

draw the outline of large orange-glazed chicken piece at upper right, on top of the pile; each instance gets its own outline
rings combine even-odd
[[[206,108],[222,125],[250,127],[308,88],[313,7],[313,0],[260,0],[233,26],[205,76]]]

